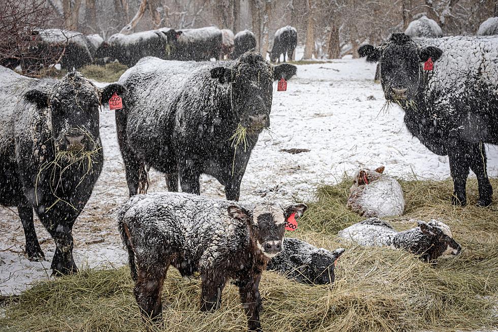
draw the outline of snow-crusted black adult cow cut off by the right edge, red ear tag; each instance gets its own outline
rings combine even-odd
[[[454,204],[466,204],[469,169],[479,183],[478,204],[491,204],[484,143],[498,144],[498,37],[411,39],[393,34],[382,47],[360,47],[379,62],[387,101],[433,153],[448,155]]]

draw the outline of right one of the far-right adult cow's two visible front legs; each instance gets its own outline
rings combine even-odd
[[[479,200],[477,204],[480,206],[490,205],[493,196],[493,187],[491,187],[486,171],[486,161],[484,143],[480,142],[474,145],[470,166],[472,171],[476,174],[477,182],[479,184]]]

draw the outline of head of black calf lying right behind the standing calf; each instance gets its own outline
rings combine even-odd
[[[323,248],[313,250],[303,264],[302,268],[305,271],[302,274],[312,284],[333,284],[335,281],[335,263],[344,252],[345,249],[343,248],[334,251],[328,251]]]

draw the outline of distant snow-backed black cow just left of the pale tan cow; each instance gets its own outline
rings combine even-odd
[[[178,42],[168,57],[179,61],[209,61],[222,55],[223,33],[214,26],[198,29],[181,29]]]

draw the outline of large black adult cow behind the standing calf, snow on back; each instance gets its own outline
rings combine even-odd
[[[295,74],[295,66],[272,66],[259,53],[224,63],[143,58],[119,79],[128,89],[116,126],[130,196],[146,185],[148,165],[166,173],[170,191],[179,177],[183,192],[200,194],[205,173],[238,200],[251,151],[270,125],[272,83]],[[241,129],[246,140],[237,146]]]

